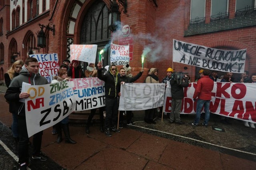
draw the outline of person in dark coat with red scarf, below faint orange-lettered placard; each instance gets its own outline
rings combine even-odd
[[[84,72],[81,66],[78,65],[78,61],[73,60],[68,68],[68,76],[71,78],[84,78]]]

